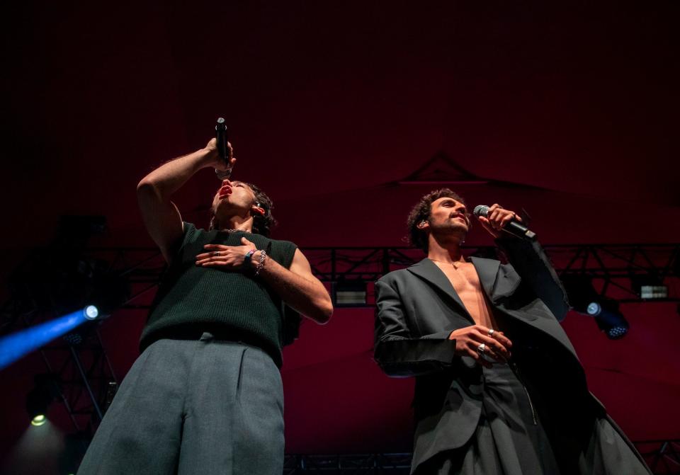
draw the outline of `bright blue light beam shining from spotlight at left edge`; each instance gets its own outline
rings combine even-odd
[[[49,343],[57,336],[68,333],[86,321],[96,319],[98,314],[97,307],[88,305],[84,309],[74,311],[71,314],[0,338],[0,370],[4,370],[16,360]]]

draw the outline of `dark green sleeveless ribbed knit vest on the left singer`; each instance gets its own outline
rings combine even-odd
[[[211,331],[218,338],[259,346],[280,367],[287,313],[280,297],[252,272],[196,266],[196,256],[206,252],[205,244],[241,246],[244,236],[274,261],[290,267],[297,248],[290,241],[244,231],[205,231],[185,222],[183,239],[172,253],[142,331],[140,350],[160,338],[193,338]]]

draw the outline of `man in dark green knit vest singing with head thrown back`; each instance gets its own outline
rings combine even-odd
[[[208,230],[171,196],[203,168],[227,170],[215,139],[142,178],[145,225],[169,263],[142,354],[121,384],[79,474],[271,474],[283,471],[279,368],[290,307],[319,324],[324,285],[290,241],[269,238],[271,200],[222,181]]]

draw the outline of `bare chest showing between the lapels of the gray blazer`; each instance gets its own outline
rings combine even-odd
[[[453,290],[458,294],[475,323],[497,330],[494,315],[485,298],[475,266],[469,262],[450,264],[432,261],[448,277]]]

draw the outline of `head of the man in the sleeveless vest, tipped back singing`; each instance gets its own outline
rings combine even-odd
[[[210,229],[225,229],[234,217],[242,222],[252,218],[252,231],[269,236],[276,225],[272,209],[271,198],[256,185],[225,180],[212,198]]]

